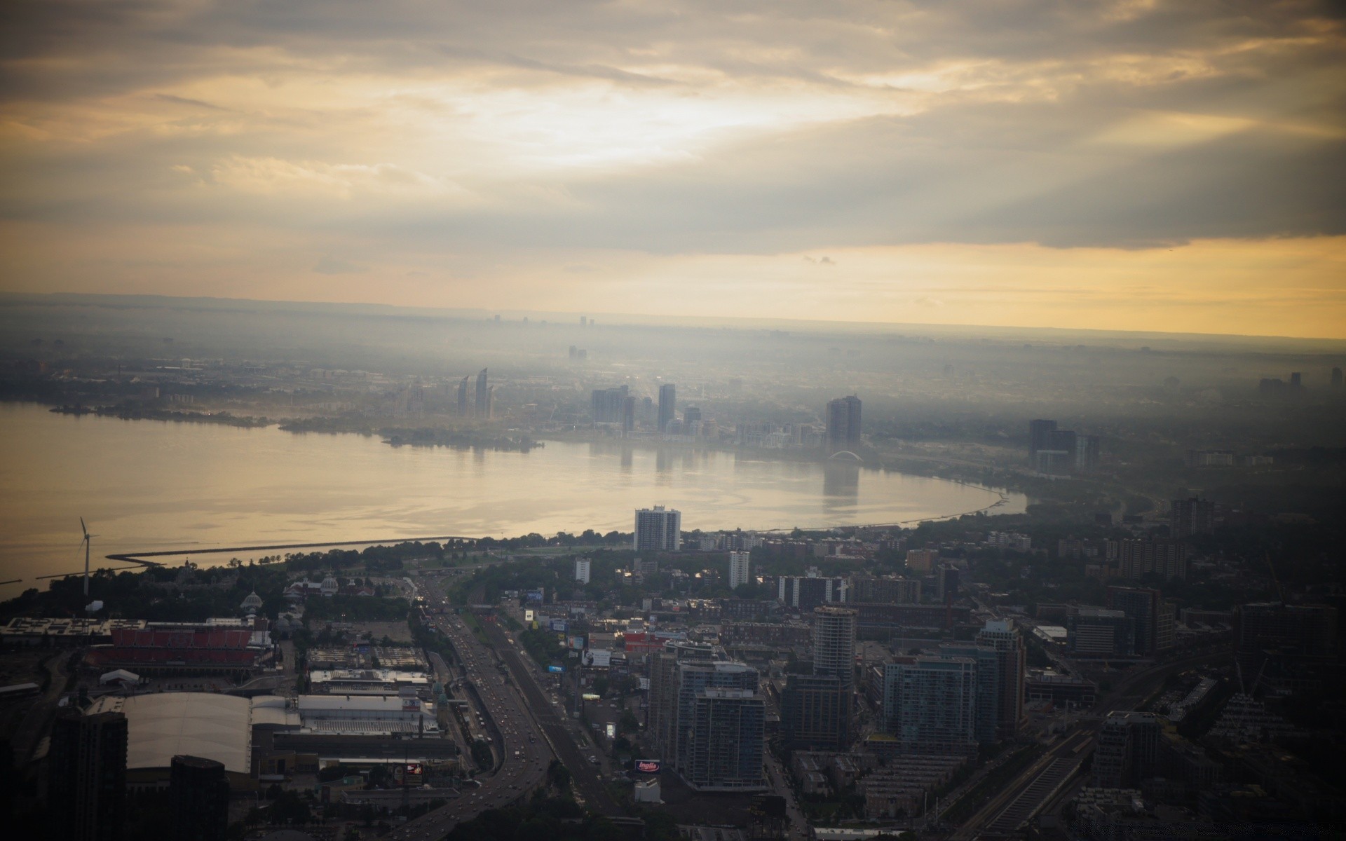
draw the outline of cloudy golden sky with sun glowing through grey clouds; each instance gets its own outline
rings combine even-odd
[[[1346,338],[1346,11],[8,0],[0,291]]]

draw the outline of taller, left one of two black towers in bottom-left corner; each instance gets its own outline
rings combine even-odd
[[[54,837],[116,841],[127,807],[127,717],[63,710],[47,751]]]

